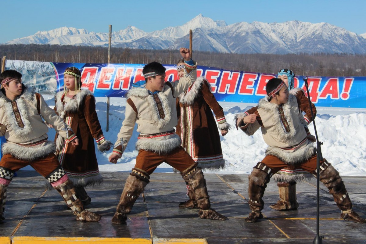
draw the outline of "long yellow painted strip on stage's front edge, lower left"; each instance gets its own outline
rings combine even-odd
[[[89,244],[151,244],[152,240],[141,238],[100,238],[100,237],[37,237],[37,236],[16,236],[12,238],[12,244],[64,244],[74,243]]]

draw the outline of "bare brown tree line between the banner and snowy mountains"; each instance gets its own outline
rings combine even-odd
[[[176,64],[176,50],[112,48],[111,63],[147,64],[158,61]],[[12,44],[0,45],[0,57],[7,59],[62,63],[107,63],[108,48],[71,45]],[[296,75],[366,76],[366,55],[299,53],[299,54],[234,54],[193,51],[199,65],[276,74],[279,68],[290,68]]]

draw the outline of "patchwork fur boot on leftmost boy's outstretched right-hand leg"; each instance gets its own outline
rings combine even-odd
[[[98,222],[102,218],[100,214],[91,213],[84,209],[83,203],[78,198],[78,194],[75,191],[74,185],[70,180],[66,180],[54,187],[65,200],[66,204],[74,214],[78,221]]]

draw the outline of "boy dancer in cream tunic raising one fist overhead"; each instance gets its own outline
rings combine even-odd
[[[117,211],[112,218],[113,224],[126,224],[127,214],[131,212],[136,199],[149,183],[150,174],[163,162],[179,170],[183,179],[195,192],[200,218],[226,219],[211,209],[202,170],[180,145],[181,140],[175,134],[174,127],[178,123],[176,96],[197,78],[197,64],[190,60],[189,49],[181,48],[180,54],[185,63],[184,76],[179,81],[165,82],[164,66],[152,62],[142,70],[145,78],[145,82],[142,83],[145,84],[128,91],[126,117],[109,161],[116,163],[117,159],[122,157],[135,124],[140,133],[136,143],[139,153],[135,167],[124,185]]]

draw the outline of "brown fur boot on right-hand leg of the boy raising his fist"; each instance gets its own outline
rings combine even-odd
[[[201,168],[197,164],[191,165],[180,173],[183,179],[188,182],[190,189],[194,192],[195,200],[199,208],[198,216],[202,219],[226,220],[224,215],[211,209],[210,197],[206,188],[206,180]]]

